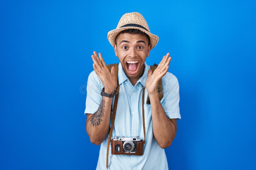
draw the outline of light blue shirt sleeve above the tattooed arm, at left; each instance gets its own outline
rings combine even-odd
[[[86,102],[84,114],[94,114],[100,106],[102,96],[100,95],[103,84],[95,73],[92,71],[88,76],[87,87],[86,87]]]

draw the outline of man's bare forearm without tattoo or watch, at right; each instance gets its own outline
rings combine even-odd
[[[173,122],[166,116],[159,101],[158,93],[149,94],[149,98],[154,137],[161,148],[167,148],[172,144],[172,140],[176,135],[176,120]]]

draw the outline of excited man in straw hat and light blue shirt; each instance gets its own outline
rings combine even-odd
[[[93,144],[100,145],[97,169],[168,169],[164,148],[172,144],[177,123],[180,118],[179,83],[168,73],[171,57],[163,57],[152,73],[145,62],[149,52],[158,42],[158,37],[150,33],[148,24],[140,13],[126,13],[120,19],[117,28],[108,32],[108,40],[114,47],[120,63],[118,81],[115,67],[109,72],[99,53],[93,52],[93,69],[88,77],[86,109],[86,131]],[[163,98],[160,101],[157,91],[162,80]],[[143,155],[112,155],[108,148],[108,132],[111,125],[111,95],[119,84],[119,96],[116,109],[114,136],[137,137],[146,140]],[[142,120],[142,91],[149,96],[150,104],[145,102],[145,136]],[[104,88],[104,89],[103,89]],[[101,96],[101,90],[109,96]],[[122,147],[122,146],[121,146]]]

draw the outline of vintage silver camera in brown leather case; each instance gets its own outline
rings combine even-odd
[[[111,154],[112,155],[143,155],[144,141],[138,136],[125,138],[124,136],[114,136],[111,139]]]

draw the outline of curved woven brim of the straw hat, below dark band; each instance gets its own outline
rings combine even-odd
[[[149,39],[150,39],[150,44],[152,45],[151,49],[153,49],[156,46],[156,44],[157,44],[157,42],[159,40],[157,35],[152,34],[152,33],[148,32],[148,31],[144,30],[143,28],[135,27],[135,26],[127,26],[127,27],[117,28],[115,30],[111,30],[111,31],[108,32],[108,41],[110,42],[110,44],[112,46],[114,46],[114,44],[116,43],[115,42],[116,36],[121,31],[128,30],[128,29],[137,29],[137,30],[140,30],[140,31],[145,32],[146,34],[148,34]]]

